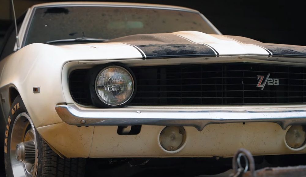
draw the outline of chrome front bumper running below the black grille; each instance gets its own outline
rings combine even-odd
[[[199,131],[209,124],[273,122],[285,130],[289,125],[306,124],[306,109],[267,108],[257,110],[205,109],[94,109],[61,103],[55,106],[61,119],[77,126],[161,125],[193,126]]]

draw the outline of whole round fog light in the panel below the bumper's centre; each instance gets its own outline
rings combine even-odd
[[[186,132],[183,127],[165,127],[159,135],[159,143],[165,150],[178,150],[186,140]]]

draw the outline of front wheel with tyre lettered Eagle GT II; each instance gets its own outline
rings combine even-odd
[[[14,100],[7,122],[6,176],[84,176],[86,159],[59,157],[36,131],[20,96]]]

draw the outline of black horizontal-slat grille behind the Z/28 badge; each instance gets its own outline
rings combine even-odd
[[[196,64],[131,67],[137,92],[130,105],[231,105],[304,103],[306,69],[254,63]],[[81,70],[84,72],[84,70]],[[305,73],[305,74],[304,74]],[[263,83],[277,78],[279,85],[256,87],[257,75]],[[80,77],[80,74],[79,74]],[[74,78],[74,76],[71,78]],[[82,78],[82,77],[80,77]],[[71,81],[73,79],[70,79]],[[70,81],[73,98],[85,103],[88,95]],[[74,93],[77,90],[76,93]],[[77,95],[77,96],[76,96]],[[80,99],[79,99],[80,98]],[[89,97],[90,98],[90,97]]]

